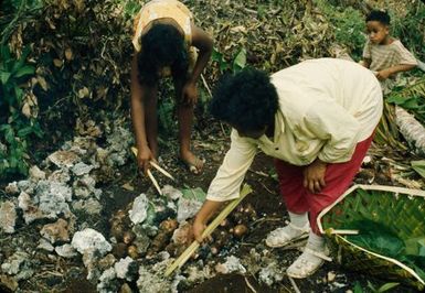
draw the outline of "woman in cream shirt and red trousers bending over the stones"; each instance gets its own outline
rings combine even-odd
[[[375,76],[343,59],[302,62],[268,77],[255,69],[221,82],[212,115],[233,127],[231,149],[210,185],[193,224],[198,241],[223,202],[238,197],[258,149],[275,158],[290,224],[272,231],[269,247],[308,237],[302,254],[287,269],[306,278],[329,259],[317,227],[318,214],[351,184],[382,115]]]

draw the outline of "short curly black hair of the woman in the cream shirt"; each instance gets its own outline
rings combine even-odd
[[[221,78],[210,104],[211,115],[241,131],[261,131],[274,122],[278,96],[267,74],[244,68]]]

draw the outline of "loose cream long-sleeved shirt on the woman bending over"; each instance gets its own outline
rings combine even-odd
[[[231,148],[210,185],[208,199],[237,198],[259,150],[299,166],[317,158],[328,163],[347,162],[381,118],[380,84],[372,72],[357,63],[310,59],[277,72],[270,79],[279,99],[274,137],[243,138],[233,129]]]

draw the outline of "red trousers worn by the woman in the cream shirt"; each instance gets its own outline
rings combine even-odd
[[[325,174],[326,187],[316,194],[302,186],[302,172],[306,166],[291,165],[276,159],[279,188],[287,210],[294,214],[308,211],[310,227],[315,234],[319,235],[317,216],[348,189],[363,162],[372,139],[373,134],[359,142],[350,161],[329,163]]]

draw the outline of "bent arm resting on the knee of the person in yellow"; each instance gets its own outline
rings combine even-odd
[[[189,80],[183,87],[183,98],[190,104],[194,104],[196,101],[196,82],[210,59],[213,41],[203,30],[192,25],[192,45],[199,50],[199,55],[196,63],[194,64],[192,75],[189,77]]]

